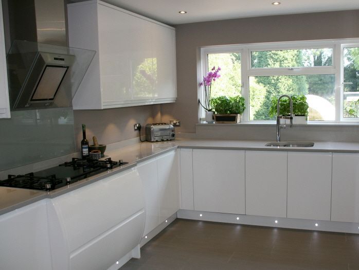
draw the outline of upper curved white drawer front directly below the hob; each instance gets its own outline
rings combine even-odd
[[[143,210],[143,190],[134,169],[52,199],[69,252]]]

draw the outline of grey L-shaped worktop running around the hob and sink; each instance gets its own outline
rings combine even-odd
[[[123,143],[107,145],[106,156],[113,160],[122,159],[129,164],[113,170],[88,177],[79,182],[50,192],[17,188],[0,187],[0,214],[4,214],[33,202],[52,198],[99,181],[107,176],[131,169],[137,163],[158,156],[170,150],[179,148],[190,149],[227,149],[227,150],[258,150],[258,151],[310,151],[310,152],[338,152],[359,153],[359,142],[315,141],[314,147],[288,148],[265,147],[268,141],[259,140],[222,140],[222,139],[189,139],[180,138],[163,142],[137,142],[123,146]]]

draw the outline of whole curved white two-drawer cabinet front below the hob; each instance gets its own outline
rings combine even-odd
[[[50,207],[51,248],[63,257],[53,269],[107,269],[139,244],[145,226],[135,168],[56,197]]]

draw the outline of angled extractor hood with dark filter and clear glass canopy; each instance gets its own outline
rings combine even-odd
[[[69,107],[95,51],[14,41],[8,53],[12,110]]]

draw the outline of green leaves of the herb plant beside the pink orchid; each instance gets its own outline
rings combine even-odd
[[[212,99],[217,114],[242,114],[245,110],[244,98],[241,96],[220,96]]]

